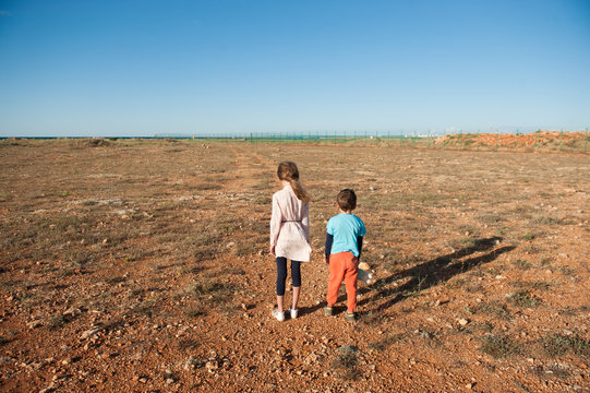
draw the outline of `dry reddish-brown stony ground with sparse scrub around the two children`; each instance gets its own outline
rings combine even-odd
[[[284,159],[314,253],[280,323]],[[0,169],[3,392],[590,391],[589,155],[13,140]],[[357,323],[344,291],[322,310],[347,187],[375,275]]]

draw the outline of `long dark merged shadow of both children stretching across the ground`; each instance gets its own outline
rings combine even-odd
[[[380,305],[373,311],[384,311],[394,306],[398,301],[402,300],[410,294],[417,294],[421,290],[428,289],[436,284],[447,282],[457,274],[465,273],[483,263],[492,262],[499,254],[514,250],[515,246],[505,246],[493,250],[493,248],[499,243],[503,239],[501,237],[492,237],[486,239],[477,239],[473,246],[462,248],[453,253],[437,257],[428,262],[418,264],[413,267],[404,270],[401,272],[394,273],[385,278],[380,278],[373,284],[364,286],[358,290],[358,294],[364,295],[374,293],[371,297],[361,300],[358,305],[370,303],[380,299],[387,299],[384,303]],[[486,254],[470,258],[462,261],[456,261],[457,259],[473,254],[475,252],[489,251]],[[410,281],[399,287],[392,287],[395,281],[412,277]],[[338,297],[338,302],[346,301],[346,295],[342,294]],[[325,301],[320,305],[306,308],[304,313],[312,313],[325,306]],[[345,307],[346,308],[346,307]]]

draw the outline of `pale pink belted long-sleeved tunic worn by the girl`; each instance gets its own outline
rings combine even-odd
[[[270,245],[277,257],[310,261],[310,206],[297,198],[289,184],[273,195]]]

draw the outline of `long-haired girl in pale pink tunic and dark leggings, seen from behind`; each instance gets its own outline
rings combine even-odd
[[[296,163],[280,163],[277,176],[282,183],[282,190],[273,195],[269,251],[277,261],[277,308],[273,310],[273,317],[278,321],[284,321],[287,260],[291,260],[293,300],[290,314],[294,319],[298,314],[297,305],[301,293],[300,262],[308,262],[312,251],[310,247],[310,196],[299,183],[299,170]]]

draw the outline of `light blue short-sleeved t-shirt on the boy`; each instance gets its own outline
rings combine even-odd
[[[366,235],[361,218],[354,214],[340,213],[328,221],[326,225],[329,235],[334,236],[332,253],[350,251],[359,257],[357,238]]]

